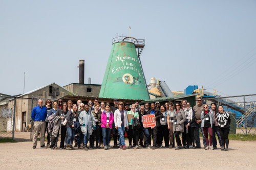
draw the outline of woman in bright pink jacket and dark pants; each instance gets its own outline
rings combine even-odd
[[[101,113],[101,130],[103,135],[104,150],[110,149],[109,140],[113,121],[113,113],[110,110],[110,105],[107,104],[105,106],[105,110]]]

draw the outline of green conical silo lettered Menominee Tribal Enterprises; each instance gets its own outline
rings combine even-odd
[[[148,100],[150,98],[138,57],[139,48],[144,47],[144,40],[142,44],[139,44],[135,38],[126,40],[131,42],[124,39],[118,42],[118,38],[113,39],[99,97]]]

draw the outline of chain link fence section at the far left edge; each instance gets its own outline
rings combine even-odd
[[[12,96],[0,96],[0,138],[14,140],[16,99]]]

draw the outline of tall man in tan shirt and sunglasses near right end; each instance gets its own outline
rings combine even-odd
[[[196,148],[200,149],[201,148],[201,143],[200,143],[200,137],[199,137],[199,129],[201,130],[202,137],[203,137],[203,144],[204,148],[206,148],[206,141],[205,141],[205,136],[203,133],[203,128],[201,126],[201,113],[204,110],[204,106],[202,104],[202,98],[199,97],[197,99],[197,105],[193,107],[193,110],[195,111],[195,122],[196,122],[196,128],[194,131],[194,136],[195,136],[195,141],[196,141]]]

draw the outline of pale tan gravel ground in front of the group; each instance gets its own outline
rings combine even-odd
[[[125,143],[128,143],[126,140]],[[59,144],[59,143],[58,143]],[[111,142],[113,144],[113,141]],[[31,141],[0,143],[2,169],[256,169],[256,142],[229,141],[229,151],[174,149],[33,150]],[[133,167],[131,167],[133,166]]]

